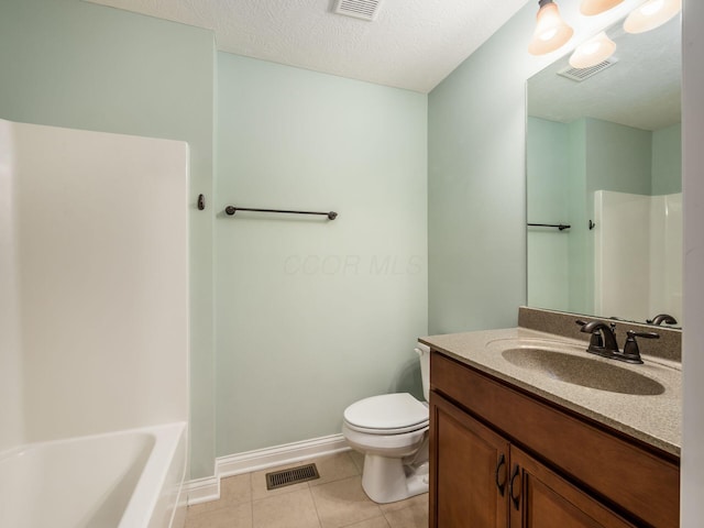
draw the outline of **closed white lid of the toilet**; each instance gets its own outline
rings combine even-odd
[[[344,409],[344,420],[364,429],[400,429],[428,421],[428,407],[408,393],[372,396]]]

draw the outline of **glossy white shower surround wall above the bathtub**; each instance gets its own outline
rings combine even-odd
[[[188,146],[0,140],[0,450],[186,420]]]

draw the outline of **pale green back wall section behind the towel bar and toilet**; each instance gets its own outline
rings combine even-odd
[[[218,54],[218,455],[339,433],[362,397],[421,397],[427,97]]]

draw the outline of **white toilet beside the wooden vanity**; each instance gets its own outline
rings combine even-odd
[[[418,343],[426,402],[430,392],[430,349]],[[361,399],[344,409],[342,435],[364,454],[362,487],[375,503],[394,503],[428,491],[426,402],[408,393]]]

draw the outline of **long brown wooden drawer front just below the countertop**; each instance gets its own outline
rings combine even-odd
[[[676,462],[440,353],[430,372],[433,391],[605,503],[651,526],[679,526]]]

